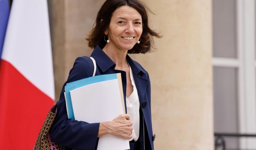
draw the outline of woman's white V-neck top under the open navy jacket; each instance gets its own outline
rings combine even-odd
[[[126,97],[127,114],[130,115],[130,121],[133,122],[133,137],[129,141],[137,141],[139,138],[139,96],[133,79],[133,73],[130,67],[131,84],[133,85],[133,93]]]

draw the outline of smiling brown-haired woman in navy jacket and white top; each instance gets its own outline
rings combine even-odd
[[[127,114],[101,123],[68,119],[63,94],[66,83],[91,77],[94,69],[89,57],[78,57],[57,102],[58,112],[50,132],[53,142],[67,148],[94,150],[98,137],[113,134],[129,139],[131,150],[154,149],[149,75],[127,55],[150,51],[153,36],[160,37],[148,26],[147,10],[138,0],[106,0],[87,38],[89,47],[94,48],[91,57],[97,63],[96,75],[121,73]]]

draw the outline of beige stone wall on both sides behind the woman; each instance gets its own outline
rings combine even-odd
[[[90,55],[84,39],[104,0],[49,1],[55,91],[76,57]],[[156,150],[213,150],[211,0],[144,0],[157,15],[157,50],[131,55],[148,72]]]

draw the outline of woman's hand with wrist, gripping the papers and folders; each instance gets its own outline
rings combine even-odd
[[[98,137],[104,136],[105,134],[112,134],[123,139],[131,139],[133,123],[130,121],[129,114],[119,115],[117,118],[110,122],[102,122],[99,127]]]

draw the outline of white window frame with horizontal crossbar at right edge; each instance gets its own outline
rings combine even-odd
[[[256,11],[254,0],[236,0],[237,58],[213,57],[212,65],[237,68],[239,133],[256,134]],[[241,149],[255,149],[256,139],[241,138]]]

